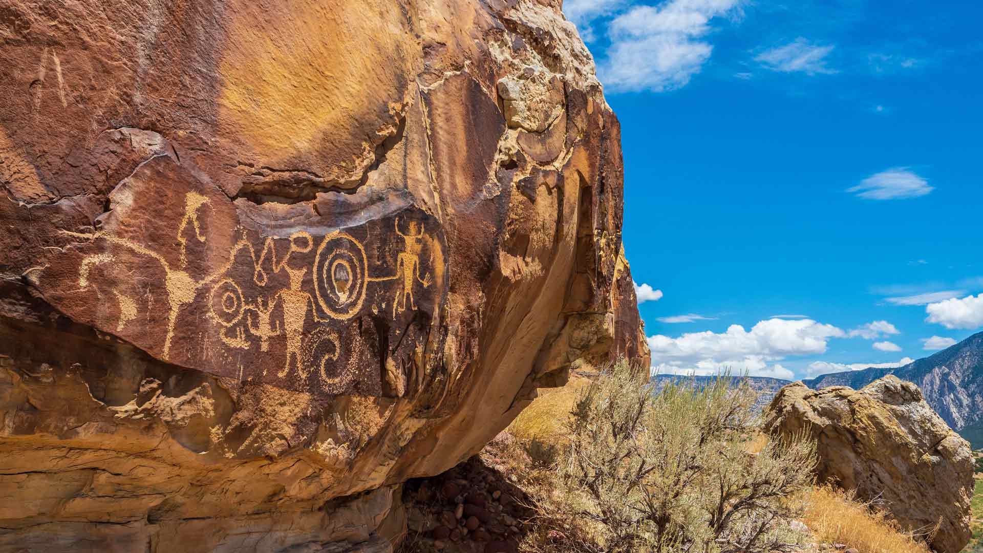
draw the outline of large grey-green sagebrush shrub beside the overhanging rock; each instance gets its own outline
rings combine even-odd
[[[747,385],[666,385],[653,394],[647,367],[620,361],[585,387],[565,426],[545,520],[578,521],[593,543],[553,551],[756,553],[791,551],[789,522],[812,482],[815,445],[804,438],[747,450],[758,431]],[[560,543],[557,543],[557,540]]]

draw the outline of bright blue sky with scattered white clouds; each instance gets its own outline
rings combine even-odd
[[[564,4],[654,368],[805,378],[983,329],[983,4]]]

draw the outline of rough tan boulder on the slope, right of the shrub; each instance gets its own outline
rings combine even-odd
[[[766,411],[765,428],[773,435],[811,435],[819,446],[820,481],[883,502],[902,527],[941,523],[929,542],[934,550],[958,553],[969,542],[972,452],[914,384],[895,376],[860,391],[790,384]]]

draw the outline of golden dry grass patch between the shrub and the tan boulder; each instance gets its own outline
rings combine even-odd
[[[819,541],[845,543],[860,553],[928,553],[925,544],[899,530],[883,514],[851,494],[830,487],[816,487],[806,498],[802,522]]]

